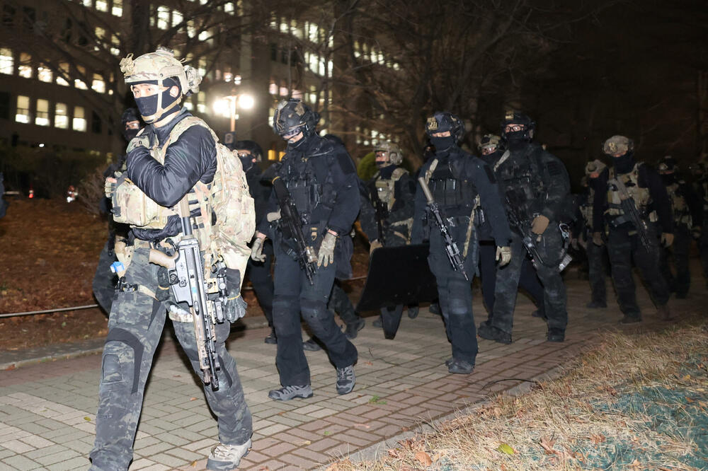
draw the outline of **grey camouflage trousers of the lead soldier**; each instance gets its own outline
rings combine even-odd
[[[144,286],[155,291],[159,267],[148,262],[148,255],[148,248],[135,250],[125,279],[128,285]],[[145,383],[165,320],[164,304],[142,291],[116,294],[103,349],[96,441],[90,454],[91,470],[127,470],[130,465]],[[173,327],[193,370],[201,377],[193,325],[173,322]],[[204,392],[210,409],[217,417],[219,441],[241,445],[251,438],[253,426],[236,371],[236,361],[224,347],[229,330],[229,322],[216,325],[217,354],[222,366],[219,371],[221,387],[213,391],[210,386],[205,386]]]

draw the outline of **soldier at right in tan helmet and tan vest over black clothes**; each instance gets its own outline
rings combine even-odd
[[[619,309],[624,313],[619,322],[641,321],[632,260],[644,277],[658,313],[668,320],[671,313],[666,303],[670,292],[659,272],[658,246],[660,233],[665,247],[673,243],[673,218],[666,187],[656,170],[634,161],[632,139],[612,136],[603,144],[603,151],[612,157],[612,168],[598,177],[595,186],[598,191],[593,203],[593,243],[603,245],[603,233],[607,236],[612,282]],[[627,191],[624,198],[623,189]],[[639,220],[635,221],[632,214]]]

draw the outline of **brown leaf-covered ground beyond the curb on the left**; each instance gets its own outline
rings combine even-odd
[[[0,219],[0,314],[96,303],[91,281],[108,235],[106,224],[76,202],[11,201]],[[368,253],[362,243],[355,243],[353,267],[355,277],[366,274]],[[343,286],[355,299],[363,282]],[[243,295],[249,303],[246,316],[263,315],[253,291],[245,289]],[[107,324],[98,308],[0,318],[0,350],[105,337]]]

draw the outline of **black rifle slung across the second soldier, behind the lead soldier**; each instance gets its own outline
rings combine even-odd
[[[312,277],[317,272],[317,255],[314,252],[314,248],[305,243],[305,237],[302,233],[302,218],[299,211],[297,211],[295,202],[292,201],[290,192],[287,191],[287,187],[280,177],[273,179],[273,190],[280,207],[280,230],[282,231],[282,236],[295,241],[297,262],[300,264],[300,268],[304,270],[309,284],[314,285]]]

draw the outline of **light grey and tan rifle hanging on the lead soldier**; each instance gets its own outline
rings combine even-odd
[[[168,271],[169,283],[177,303],[187,303],[190,306],[194,322],[194,334],[197,340],[199,367],[202,370],[204,384],[210,384],[212,390],[219,389],[217,371],[221,370],[219,356],[216,351],[215,323],[224,322],[223,305],[227,299],[226,267],[223,262],[212,266],[216,281],[204,279],[204,264],[199,250],[199,241],[192,233],[189,220],[187,197],[180,202],[180,214],[183,237],[174,247],[174,253],[168,255],[161,250],[150,250],[150,262],[165,267]],[[207,296],[210,291],[218,292],[212,301]],[[213,296],[212,296],[213,297]],[[184,314],[185,311],[171,304],[170,310]]]

